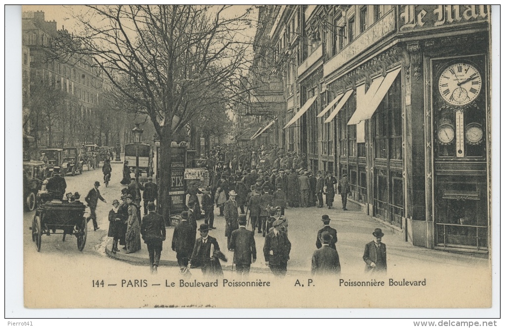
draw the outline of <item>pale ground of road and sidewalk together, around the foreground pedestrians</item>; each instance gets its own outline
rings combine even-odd
[[[122,164],[113,163],[113,174],[109,187],[105,187],[102,183],[100,192],[108,202],[98,202],[96,209],[99,230],[93,231],[92,223],[88,223],[88,235],[86,246],[82,252],[77,249],[76,238],[73,236],[67,237],[66,241],[62,241],[62,235],[55,234],[51,236],[42,236],[42,246],[40,253],[37,253],[34,243],[31,240],[31,226],[33,213],[24,213],[24,254],[27,258],[40,260],[41,263],[51,263],[53,261],[61,261],[61,257],[65,254],[65,263],[68,261],[76,261],[83,264],[85,267],[93,267],[93,263],[98,257],[102,257],[100,261],[106,260],[111,262],[111,266],[116,266],[117,261],[113,258],[106,257],[105,246],[108,245],[110,250],[112,238],[107,237],[109,228],[108,213],[112,201],[118,199],[123,187],[119,183],[121,177]],[[84,171],[82,175],[74,177],[65,177],[67,181],[67,192],[78,191],[81,194],[81,201],[85,198],[89,189],[92,188],[94,181],[102,181],[103,175],[101,169]],[[286,209],[286,218],[289,223],[288,237],[291,242],[290,260],[288,262],[288,274],[291,271],[299,273],[310,272],[312,253],[316,249],[317,231],[323,227],[321,216],[328,214],[331,218],[330,225],[337,229],[337,251],[340,256],[340,264],[342,274],[345,275],[361,275],[364,270],[364,262],[362,259],[363,249],[366,243],[373,239],[372,232],[375,228],[383,229],[385,236],[382,241],[387,245],[388,256],[388,273],[398,274],[409,272],[432,272],[437,268],[443,267],[444,270],[454,269],[455,271],[464,268],[486,268],[488,260],[479,257],[468,255],[460,255],[455,253],[441,252],[430,250],[422,247],[412,246],[411,244],[401,240],[401,235],[392,229],[389,229],[369,216],[358,211],[358,206],[349,203],[350,211],[342,211],[338,195],[335,197],[335,207],[332,210],[324,208],[289,208]],[[226,249],[226,237],[224,236],[224,217],[218,217],[219,209],[215,209],[215,226],[218,228],[210,232],[211,236],[218,239],[221,250],[228,257],[228,263],[223,263],[223,266],[231,270],[231,260],[233,252]],[[87,215],[87,214],[86,214]],[[198,224],[204,223],[203,219],[198,221]],[[250,230],[250,226],[247,227]],[[173,236],[173,227],[167,228],[167,239],[164,242],[162,253],[162,265],[176,264],[175,252],[171,250],[171,242]],[[252,265],[252,270],[256,272],[269,272],[265,266],[265,258],[263,256],[264,238],[260,234],[255,235],[256,247],[258,252],[258,260]],[[105,258],[104,258],[105,257]],[[142,244],[142,249],[133,254],[124,254],[119,252],[118,257],[122,259],[130,258],[132,263],[147,265],[148,255],[145,244]],[[27,261],[27,265],[33,264],[32,261]],[[62,264],[64,265],[64,264]],[[194,270],[193,270],[194,271]],[[145,268],[148,273],[148,268]]]

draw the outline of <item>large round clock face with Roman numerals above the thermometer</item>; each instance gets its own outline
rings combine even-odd
[[[443,100],[463,106],[477,98],[482,87],[482,77],[471,64],[459,62],[443,70],[438,79],[438,91]]]

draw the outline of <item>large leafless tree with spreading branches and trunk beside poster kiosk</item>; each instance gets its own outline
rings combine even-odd
[[[91,56],[121,97],[153,122],[161,144],[159,200],[169,215],[174,133],[204,114],[212,117],[243,92],[251,8],[232,6],[87,6],[83,32],[58,44]],[[62,54],[60,52],[60,55]]]

